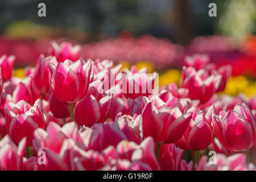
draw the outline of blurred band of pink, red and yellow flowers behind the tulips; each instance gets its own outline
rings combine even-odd
[[[64,41],[65,39],[56,40],[59,44]],[[32,41],[0,38],[0,55],[15,55],[15,67],[24,68],[26,65],[35,65],[41,53],[47,55],[49,44],[51,41],[47,39]],[[247,38],[240,47],[234,45],[229,38],[216,35],[197,37],[187,47],[182,47],[167,39],[157,39],[150,35],[136,39],[124,33],[117,39],[81,44],[81,57],[92,60],[109,59],[114,64],[122,63],[123,68],[130,68],[135,64],[138,69],[147,67],[150,73],[156,70],[160,73],[159,84],[164,86],[171,82],[179,84],[179,70],[186,56],[207,54],[210,62],[217,67],[232,65],[233,77],[228,80],[224,93],[236,96],[242,92],[250,97],[256,93],[256,36]],[[15,74],[19,72],[18,69]],[[241,83],[236,84],[237,82]]]

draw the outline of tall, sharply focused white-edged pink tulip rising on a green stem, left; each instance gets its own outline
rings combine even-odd
[[[81,61],[72,62],[65,60],[64,63],[53,65],[48,63],[50,77],[49,84],[52,93],[62,102],[72,104],[81,100],[88,91],[90,61],[82,65]]]

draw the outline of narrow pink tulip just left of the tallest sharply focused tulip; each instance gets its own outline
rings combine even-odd
[[[49,62],[52,64],[57,64],[57,60],[55,57],[44,57],[44,55],[40,55],[38,57],[38,61],[35,66],[35,72],[33,74],[35,86],[40,90],[40,93],[43,95],[46,95],[49,92]]]

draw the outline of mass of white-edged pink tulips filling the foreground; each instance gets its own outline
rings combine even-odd
[[[228,65],[186,57],[180,86],[156,92],[147,68],[80,51],[52,43],[23,79],[12,77],[14,56],[0,57],[0,170],[255,169],[256,98],[217,94]]]

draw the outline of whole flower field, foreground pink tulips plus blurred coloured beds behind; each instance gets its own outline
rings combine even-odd
[[[0,39],[0,171],[256,169],[255,37],[60,42]]]

